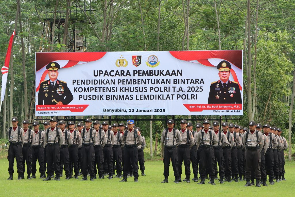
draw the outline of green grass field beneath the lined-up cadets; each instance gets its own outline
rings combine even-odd
[[[245,181],[240,183],[224,183],[216,185],[197,185],[191,183],[173,183],[174,177],[169,176],[169,183],[161,183],[163,176],[162,161],[146,161],[146,176],[139,176],[139,183],[128,178],[127,183],[119,182],[120,179],[96,179],[94,181],[65,180],[65,175],[60,181],[42,181],[38,177],[34,180],[17,180],[16,162],[14,162],[14,180],[9,177],[7,159],[0,159],[0,196],[294,196],[295,195],[295,162],[286,162],[286,181],[275,183],[268,187],[244,187]],[[38,169],[38,168],[37,168]],[[184,172],[184,167],[183,167]],[[170,174],[173,175],[172,165]],[[182,179],[184,179],[184,174]],[[25,174],[25,178],[27,174]],[[191,179],[193,175],[191,175]]]

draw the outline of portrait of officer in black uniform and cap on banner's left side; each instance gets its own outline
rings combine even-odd
[[[57,62],[47,64],[49,80],[42,81],[38,93],[38,105],[68,105],[73,95],[67,83],[57,79],[60,65]]]

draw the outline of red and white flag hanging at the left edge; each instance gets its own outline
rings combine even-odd
[[[6,89],[7,76],[8,76],[8,68],[9,68],[9,62],[10,62],[10,53],[11,53],[11,47],[12,47],[12,42],[13,42],[14,35],[15,35],[15,30],[13,31],[12,35],[10,36],[4,66],[1,68],[1,73],[2,73],[1,101],[4,100],[4,96],[5,96],[5,89]]]

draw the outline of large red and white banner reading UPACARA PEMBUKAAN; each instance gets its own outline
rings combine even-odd
[[[36,116],[243,115],[243,51],[36,53]]]

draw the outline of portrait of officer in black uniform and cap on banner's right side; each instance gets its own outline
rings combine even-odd
[[[230,69],[232,66],[228,61],[221,61],[217,65],[219,80],[212,82],[208,97],[210,103],[242,103],[239,84],[230,81]]]

